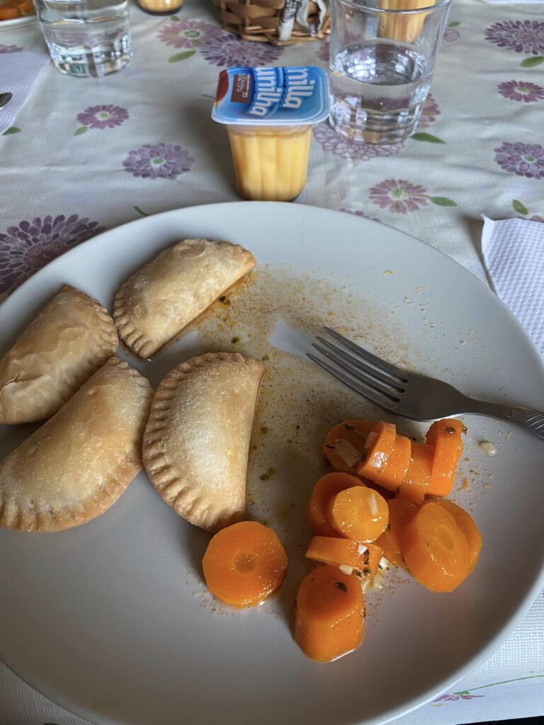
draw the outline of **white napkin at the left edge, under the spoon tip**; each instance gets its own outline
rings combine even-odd
[[[49,56],[45,53],[21,51],[0,54],[0,94],[13,94],[11,101],[0,109],[0,134],[13,125],[17,111],[25,103],[48,62]]]

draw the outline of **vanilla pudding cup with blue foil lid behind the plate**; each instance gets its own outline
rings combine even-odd
[[[329,115],[317,67],[221,72],[212,117],[227,126],[240,195],[291,202],[306,184],[312,126]]]

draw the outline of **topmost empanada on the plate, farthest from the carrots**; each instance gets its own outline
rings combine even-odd
[[[151,357],[256,263],[228,241],[184,239],[168,247],[120,287],[113,310],[120,337],[139,357]]]

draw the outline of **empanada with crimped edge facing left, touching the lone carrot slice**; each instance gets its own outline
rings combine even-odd
[[[144,434],[144,465],[163,500],[218,531],[244,518],[247,458],[263,365],[210,352],[162,380]]]

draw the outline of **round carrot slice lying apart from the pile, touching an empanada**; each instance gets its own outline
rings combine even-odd
[[[212,537],[202,568],[214,597],[231,607],[254,607],[281,586],[287,554],[268,526],[241,521]]]

